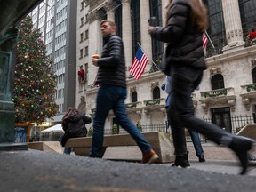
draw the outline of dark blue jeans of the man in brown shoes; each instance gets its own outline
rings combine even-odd
[[[127,91],[124,87],[100,85],[96,99],[96,113],[93,118],[92,149],[90,152],[91,157],[101,157],[104,139],[104,125],[108,112],[111,109],[114,111],[118,124],[131,134],[142,153],[152,149],[141,134],[140,130],[135,124],[132,124],[128,118],[124,104],[126,95]]]

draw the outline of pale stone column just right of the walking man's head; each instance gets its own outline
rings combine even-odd
[[[132,24],[131,24],[131,6],[130,0],[123,0],[122,7],[122,30],[123,30],[123,41],[124,41],[124,54],[126,66],[132,65]],[[125,33],[124,33],[125,32]],[[129,73],[129,72],[128,72]]]

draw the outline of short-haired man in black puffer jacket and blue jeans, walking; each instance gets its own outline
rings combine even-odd
[[[95,84],[100,88],[96,98],[96,113],[93,119],[91,157],[101,157],[103,145],[104,124],[108,112],[113,109],[120,124],[136,141],[142,152],[142,163],[153,164],[158,159],[140,130],[132,124],[127,116],[124,100],[126,99],[124,45],[116,36],[116,24],[112,20],[102,20],[100,23],[104,45],[100,59],[92,58],[92,65],[99,67]]]

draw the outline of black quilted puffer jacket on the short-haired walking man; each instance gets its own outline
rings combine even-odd
[[[98,60],[96,84],[115,85],[126,88],[124,45],[119,36],[104,37],[104,46]]]

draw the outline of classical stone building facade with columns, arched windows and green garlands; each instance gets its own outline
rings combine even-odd
[[[80,1],[80,2],[79,2]],[[97,69],[91,56],[102,50],[100,20],[115,20],[117,35],[124,41],[128,95],[126,107],[136,124],[165,124],[166,93],[161,90],[165,76],[157,65],[165,44],[148,36],[148,19],[155,16],[165,23],[165,6],[161,0],[78,0],[76,38],[76,106],[85,97],[86,113],[94,115],[98,88],[94,86]],[[210,118],[228,132],[236,132],[232,116],[252,116],[256,106],[256,45],[245,44],[245,36],[256,29],[255,0],[215,0],[204,3],[209,10],[209,44],[205,52],[207,70],[200,90],[193,93],[195,114]],[[149,62],[136,81],[129,73],[135,52],[141,45]],[[84,72],[83,72],[84,70]],[[82,76],[81,76],[82,74]],[[84,74],[84,75],[83,75]],[[81,80],[83,78],[83,80]],[[182,89],[182,87],[180,87]],[[244,122],[252,123],[252,122]],[[113,112],[106,121],[106,130],[116,124]]]

